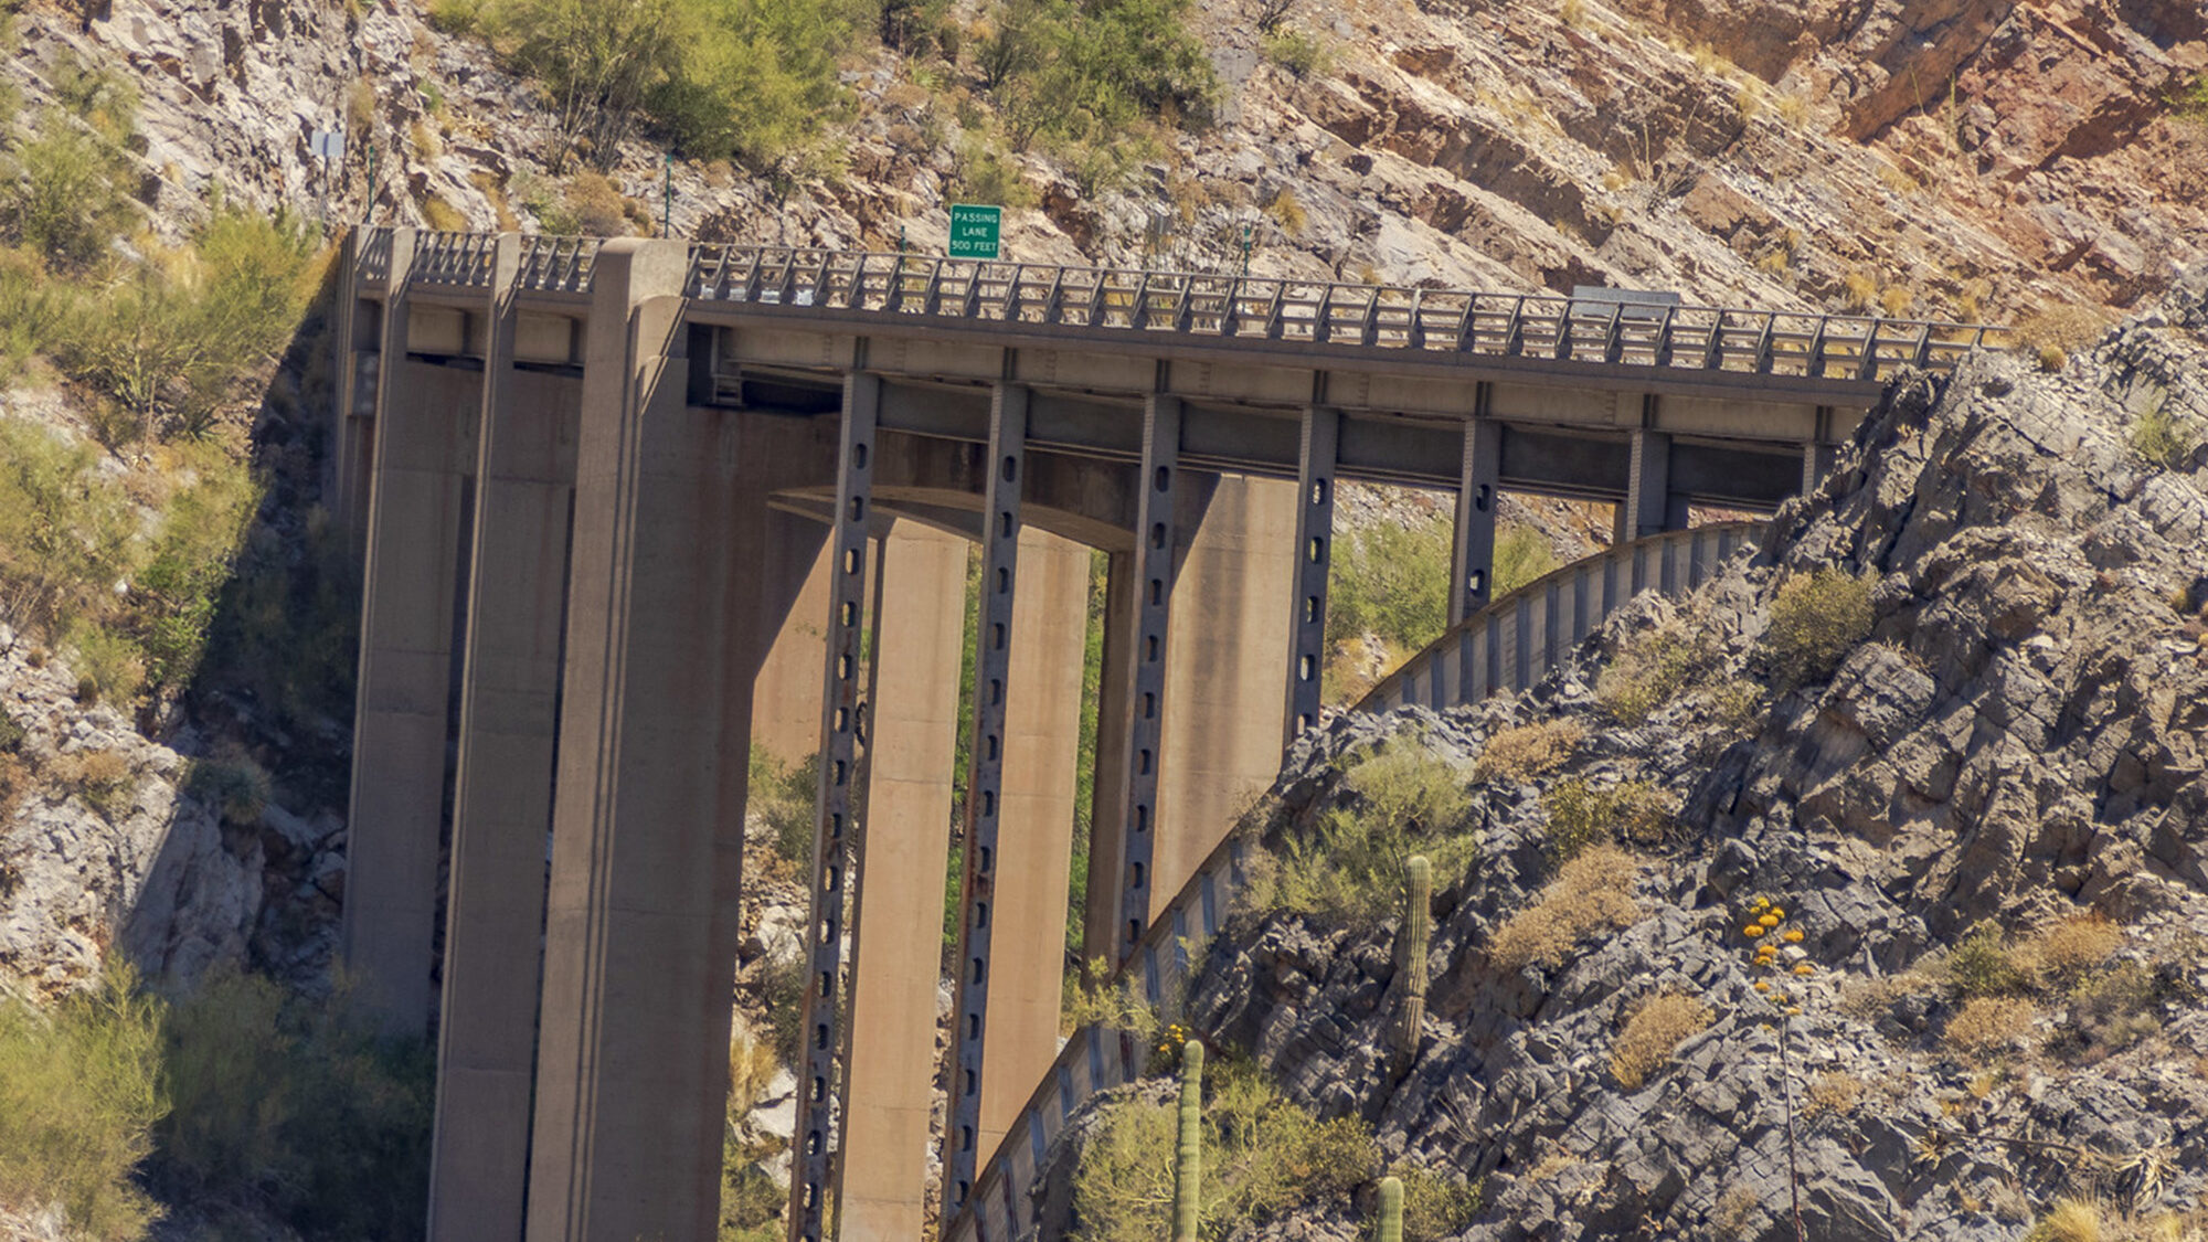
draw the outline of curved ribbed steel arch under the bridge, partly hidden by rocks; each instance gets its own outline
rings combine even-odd
[[[1442,709],[1477,703],[1495,692],[1526,690],[1627,599],[1643,590],[1685,594],[1709,581],[1764,530],[1764,522],[1722,522],[1649,535],[1572,561],[1459,621],[1404,661],[1351,712],[1391,712],[1413,703]],[[1289,767],[1301,758],[1292,754]],[[1188,975],[1190,944],[1208,941],[1225,924],[1228,904],[1245,877],[1248,853],[1250,840],[1239,831],[1230,833],[1142,937],[1119,979],[1126,970],[1139,970],[1148,1003],[1155,1006],[1179,988]],[[943,1233],[943,1242],[1036,1238],[1031,1191],[1051,1143],[1089,1096],[1142,1076],[1146,1052],[1126,1030],[1091,1025],[1075,1032],[1005,1132],[989,1167],[974,1182],[972,1209]]]

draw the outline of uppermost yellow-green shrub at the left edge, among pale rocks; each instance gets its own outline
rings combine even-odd
[[[88,126],[46,113],[38,137],[0,157],[0,228],[57,267],[99,261],[130,219],[128,166]]]

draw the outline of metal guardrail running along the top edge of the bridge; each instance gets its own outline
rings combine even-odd
[[[391,230],[364,232],[360,274],[384,283]],[[488,287],[495,239],[426,232],[415,272],[431,283]],[[587,236],[523,236],[521,287],[587,294],[598,245]],[[1921,318],[784,245],[691,245],[684,294],[967,323],[1872,382],[1901,367],[1952,369],[1972,349],[2009,336],[2005,327]]]

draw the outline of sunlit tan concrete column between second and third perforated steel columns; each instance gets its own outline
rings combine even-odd
[[[980,1098],[980,1162],[1058,1059],[1066,968],[1066,869],[1082,738],[1089,636],[1089,548],[1029,526],[1020,533],[1011,685],[998,827],[996,952]]]

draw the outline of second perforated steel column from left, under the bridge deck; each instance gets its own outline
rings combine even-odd
[[[996,829],[1005,793],[1005,683],[1011,676],[1011,597],[1020,570],[1020,486],[1027,389],[998,385],[989,402],[989,482],[983,495],[980,608],[974,634],[974,756],[967,776],[965,882],[958,919],[958,1008],[952,1030],[949,1125],[943,1127],[943,1218],[967,1207],[980,1154],[983,1039],[989,1025],[989,937],[996,926]]]

